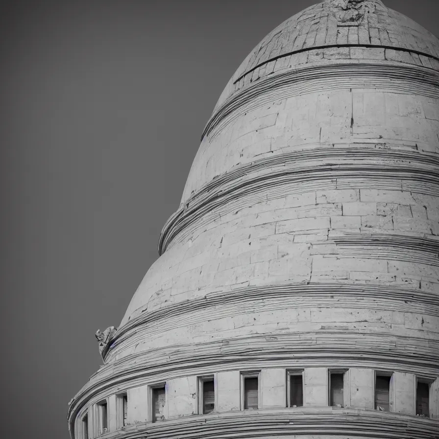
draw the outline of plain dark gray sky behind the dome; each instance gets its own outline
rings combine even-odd
[[[313,0],[12,1],[1,14],[4,438],[67,439],[230,76]],[[438,0],[385,0],[439,35]]]

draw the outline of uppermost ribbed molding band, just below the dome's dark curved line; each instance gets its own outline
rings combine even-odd
[[[223,129],[238,110],[257,108],[279,98],[350,88],[393,90],[439,98],[439,72],[420,66],[384,63],[326,64],[268,75],[228,98],[207,122],[201,136]],[[251,104],[251,105],[250,105]]]

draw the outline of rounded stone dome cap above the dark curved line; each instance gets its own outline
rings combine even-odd
[[[273,29],[244,59],[215,110],[233,94],[239,78],[271,60],[313,48],[355,45],[409,49],[439,57],[435,35],[381,0],[326,0]]]

